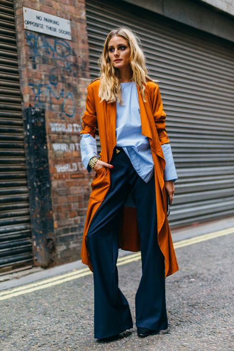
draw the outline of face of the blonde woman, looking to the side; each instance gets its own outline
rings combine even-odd
[[[130,46],[128,42],[120,37],[113,37],[108,44],[108,55],[111,60],[111,64],[121,69],[130,65]]]

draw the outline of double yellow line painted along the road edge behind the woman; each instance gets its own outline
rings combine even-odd
[[[185,240],[175,242],[174,248],[179,249],[179,248],[184,247],[184,246],[193,245],[193,244],[196,244],[196,243],[199,243],[202,241],[210,240],[213,238],[217,238],[219,236],[229,235],[229,234],[233,234],[233,233],[234,233],[234,227],[224,229],[224,230],[219,230],[219,231],[209,233],[209,234],[195,236],[195,237],[190,238],[190,239],[185,239]],[[139,261],[139,260],[141,260],[141,253],[130,254],[127,256],[120,257],[117,261],[117,266],[122,265],[122,264],[126,264],[126,263],[130,263],[130,262],[134,262],[134,261]],[[26,284],[26,285],[22,285],[22,286],[19,286],[16,288],[5,290],[5,291],[0,292],[0,301],[10,299],[10,298],[13,298],[13,297],[16,297],[19,295],[29,294],[29,293],[32,293],[32,292],[37,291],[37,290],[46,289],[46,288],[49,288],[51,286],[62,284],[62,283],[65,283],[67,281],[78,279],[78,278],[81,278],[81,277],[84,277],[84,276],[90,275],[90,274],[92,274],[92,272],[89,270],[89,268],[76,269],[72,272],[69,272],[66,274],[61,274],[59,276],[55,276],[52,278],[40,280],[39,282],[36,282],[36,283]]]

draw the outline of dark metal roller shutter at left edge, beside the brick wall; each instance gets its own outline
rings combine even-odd
[[[0,272],[32,265],[13,1],[0,0]]]

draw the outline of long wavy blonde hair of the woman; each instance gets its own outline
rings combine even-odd
[[[99,97],[101,98],[101,101],[106,100],[108,103],[117,101],[122,104],[119,73],[111,64],[108,55],[108,45],[114,36],[124,38],[130,46],[130,67],[133,73],[132,82],[135,82],[138,85],[143,100],[145,101],[144,84],[147,80],[153,80],[148,76],[145,55],[140,47],[140,39],[128,27],[113,29],[105,40],[103,51],[98,60],[100,67]]]

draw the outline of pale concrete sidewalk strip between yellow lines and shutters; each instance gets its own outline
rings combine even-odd
[[[222,229],[234,227],[234,217],[219,219],[216,221],[192,225],[183,229],[172,230],[173,242],[189,239],[195,236],[212,233]],[[119,257],[130,254],[130,251],[119,250]],[[86,266],[80,260],[72,263],[58,265],[56,267],[44,269],[33,267],[30,269],[18,271],[15,273],[0,276],[0,291],[14,288],[16,286],[29,284],[41,279],[49,278],[59,274],[67,273],[72,270],[85,268]]]

